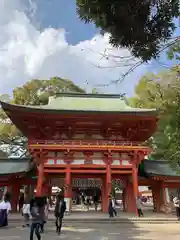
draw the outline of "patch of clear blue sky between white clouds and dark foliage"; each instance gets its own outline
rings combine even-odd
[[[36,20],[41,28],[64,28],[67,42],[77,44],[99,33],[93,24],[84,24],[76,14],[75,0],[37,0]]]

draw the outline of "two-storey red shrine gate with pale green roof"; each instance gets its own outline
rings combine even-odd
[[[77,93],[57,94],[47,105],[1,106],[28,139],[37,196],[62,184],[65,198],[71,200],[73,183],[90,179],[100,183],[103,212],[108,211],[113,181],[122,183],[127,212],[136,212],[138,185],[155,183],[158,196],[162,181],[138,178],[139,165],[151,152],[143,143],[156,131],[156,109],[131,108],[119,95]],[[13,176],[16,188],[21,178],[33,183],[25,175]]]

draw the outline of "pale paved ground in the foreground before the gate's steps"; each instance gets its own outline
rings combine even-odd
[[[86,226],[88,225],[88,226]],[[179,225],[120,225],[120,224],[74,224],[64,225],[61,236],[55,234],[53,226],[47,225],[42,240],[179,240]],[[28,240],[29,229],[10,225],[0,230],[0,240]]]

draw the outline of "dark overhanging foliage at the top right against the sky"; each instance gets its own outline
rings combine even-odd
[[[85,23],[95,23],[110,33],[110,43],[126,47],[144,61],[159,55],[161,43],[175,30],[179,0],[76,0],[77,13]]]

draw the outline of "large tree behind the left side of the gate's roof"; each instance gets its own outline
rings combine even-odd
[[[53,77],[50,80],[33,79],[22,87],[17,87],[13,91],[13,98],[8,95],[1,95],[0,99],[10,101],[20,105],[45,105],[50,96],[60,92],[85,93],[85,90],[75,85],[72,81]],[[25,154],[26,138],[15,125],[9,122],[5,113],[0,110],[0,145],[6,149],[8,154]]]

